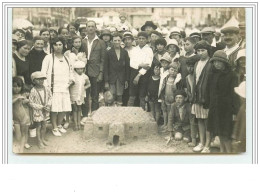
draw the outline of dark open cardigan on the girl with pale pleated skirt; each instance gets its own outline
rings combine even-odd
[[[209,74],[212,71],[212,63],[206,63],[205,67],[203,68],[201,75],[199,77],[199,81],[196,84],[196,69],[198,66],[198,62],[194,66],[194,81],[193,81],[193,94],[192,94],[192,103],[197,103],[203,105],[206,101],[206,88],[208,83]]]

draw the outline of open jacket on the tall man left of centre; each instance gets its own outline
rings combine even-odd
[[[82,40],[82,50],[85,51],[86,56],[88,56],[88,40]],[[104,70],[104,59],[106,52],[106,44],[101,39],[96,39],[93,41],[91,48],[90,57],[87,63],[87,75],[90,77],[97,77],[100,72]]]

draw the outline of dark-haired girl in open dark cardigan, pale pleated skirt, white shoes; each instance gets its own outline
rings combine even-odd
[[[210,132],[207,130],[208,109],[203,106],[206,102],[206,86],[208,83],[209,73],[212,68],[210,60],[210,45],[202,40],[195,45],[195,50],[200,60],[194,67],[194,83],[192,94],[191,113],[198,119],[200,143],[193,148],[194,152],[210,153]]]

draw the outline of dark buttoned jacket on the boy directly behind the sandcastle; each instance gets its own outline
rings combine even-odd
[[[121,84],[129,81],[130,59],[128,52],[120,48],[120,58],[117,59],[114,48],[106,52],[104,62],[104,80],[110,84],[115,84],[119,79]]]

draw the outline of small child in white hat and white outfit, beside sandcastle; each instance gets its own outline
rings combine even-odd
[[[70,99],[72,104],[72,113],[74,119],[74,131],[81,129],[81,105],[84,103],[86,96],[86,89],[90,88],[90,81],[85,72],[86,63],[83,61],[76,61],[74,64],[74,78],[75,84],[70,86]],[[88,101],[88,100],[86,100]]]

